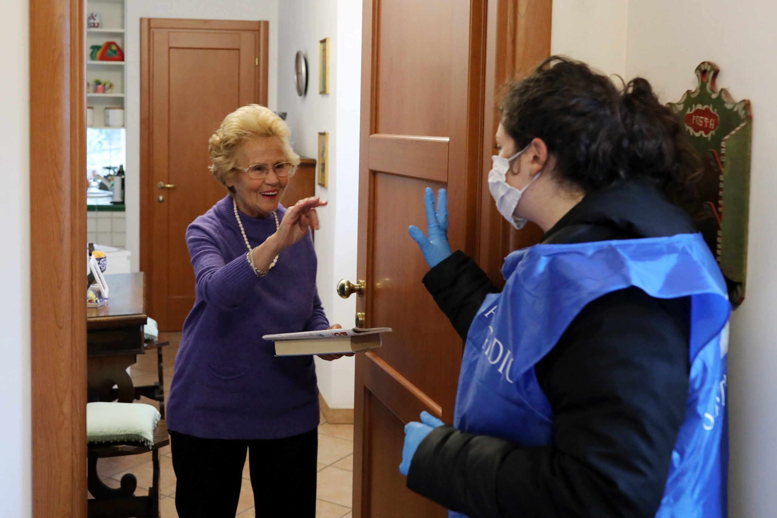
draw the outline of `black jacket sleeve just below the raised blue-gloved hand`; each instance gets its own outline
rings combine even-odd
[[[486,272],[461,250],[430,269],[423,284],[463,340],[486,295],[499,293]]]

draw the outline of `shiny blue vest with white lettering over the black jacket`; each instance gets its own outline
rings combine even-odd
[[[726,516],[726,283],[700,234],[535,245],[507,256],[507,284],[469,329],[454,426],[521,446],[553,443],[553,414],[533,367],[586,304],[636,286],[691,297],[688,406],[657,518]],[[463,516],[451,513],[451,516]]]

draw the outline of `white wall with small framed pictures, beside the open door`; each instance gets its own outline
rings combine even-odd
[[[278,110],[287,112],[294,149],[318,153],[319,131],[329,132],[329,187],[316,195],[329,200],[319,210],[315,233],[319,258],[319,296],[329,322],[354,325],[356,302],[340,299],[341,278],[356,280],[359,106],[361,99],[361,2],[359,0],[283,0],[278,13]],[[319,40],[329,37],[329,95],[319,94]],[[308,60],[308,92],[297,95],[294,56]],[[316,358],[319,389],[332,408],[354,407],[354,358],[324,362]]]

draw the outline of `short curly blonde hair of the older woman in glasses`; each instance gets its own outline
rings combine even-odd
[[[289,128],[284,120],[266,107],[247,104],[238,108],[224,117],[221,126],[207,143],[208,151],[211,151],[210,169],[214,178],[227,185],[228,177],[235,174],[237,148],[253,137],[278,137],[286,161],[294,164],[294,170],[290,173],[290,176],[293,175],[299,165],[299,155],[291,149],[289,136]]]

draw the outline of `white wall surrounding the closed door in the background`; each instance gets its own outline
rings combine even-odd
[[[268,20],[267,105],[277,101],[277,47],[279,0],[125,0],[127,61],[125,122],[127,125],[127,249],[132,252],[132,269],[140,266],[140,50],[141,18]],[[225,113],[226,115],[226,113]],[[203,143],[207,146],[207,142]]]

